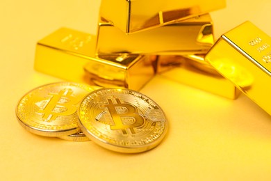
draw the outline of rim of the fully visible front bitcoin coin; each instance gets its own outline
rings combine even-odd
[[[106,90],[122,90],[122,91],[132,91],[134,93],[138,93],[140,95],[143,95],[144,97],[147,97],[147,99],[151,100],[151,102],[153,102],[154,104],[156,104],[156,106],[162,111],[164,117],[165,117],[165,128],[163,130],[163,133],[161,134],[161,136],[159,136],[158,139],[156,139],[154,142],[151,143],[147,143],[145,145],[136,145],[136,146],[123,146],[123,145],[115,145],[113,143],[109,143],[107,141],[105,141],[104,139],[100,139],[97,136],[95,136],[95,134],[92,134],[92,132],[90,132],[90,130],[88,130],[83,123],[81,123],[81,116],[80,116],[80,109],[81,106],[84,102],[84,100],[89,97],[92,93],[97,93],[98,91],[106,91]],[[157,145],[159,145],[161,143],[161,141],[165,138],[165,135],[167,134],[167,129],[168,129],[168,120],[165,116],[165,113],[163,111],[163,109],[161,109],[161,107],[154,102],[154,100],[152,100],[151,98],[149,98],[147,95],[144,95],[142,93],[139,93],[137,91],[133,91],[129,88],[100,88],[99,90],[95,90],[92,91],[91,93],[89,93],[88,95],[86,95],[83,100],[81,101],[81,104],[79,106],[79,109],[77,111],[78,116],[79,116],[79,127],[82,130],[82,132],[88,136],[90,138],[91,141],[94,141],[95,143],[97,143],[98,145],[100,145],[103,148],[107,148],[108,150],[113,150],[115,152],[124,152],[124,153],[138,153],[138,152],[145,152],[147,150],[151,150],[153,148],[155,148]]]

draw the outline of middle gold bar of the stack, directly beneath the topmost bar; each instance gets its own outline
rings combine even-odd
[[[214,44],[209,14],[130,35],[101,18],[97,54],[204,54]]]

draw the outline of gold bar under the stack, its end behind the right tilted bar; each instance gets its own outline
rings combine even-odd
[[[167,79],[234,100],[240,91],[204,61],[204,55],[159,56],[157,72]]]

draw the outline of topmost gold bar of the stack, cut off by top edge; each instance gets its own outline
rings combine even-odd
[[[102,0],[100,16],[125,33],[151,29],[224,8],[225,0]]]

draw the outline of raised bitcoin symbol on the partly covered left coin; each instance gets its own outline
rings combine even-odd
[[[40,109],[38,113],[43,113],[42,118],[47,122],[56,120],[58,116],[69,116],[76,112],[75,102],[72,101],[71,89],[61,90],[59,93],[49,93],[51,100],[46,104],[44,109]]]

